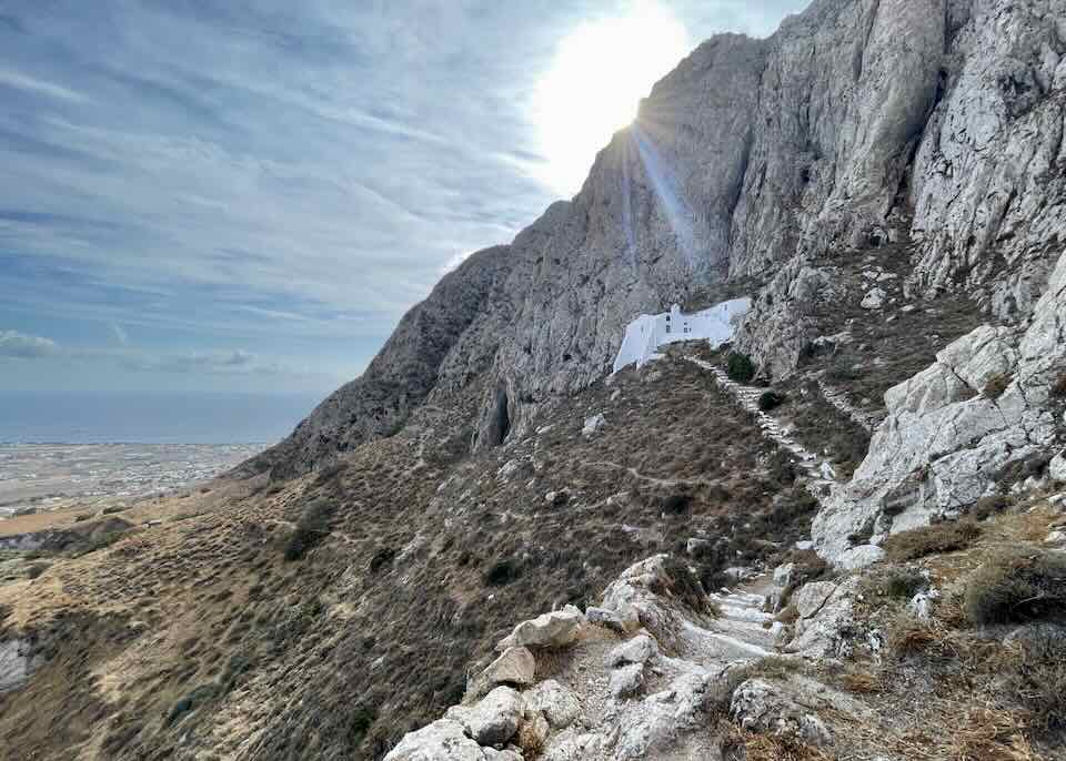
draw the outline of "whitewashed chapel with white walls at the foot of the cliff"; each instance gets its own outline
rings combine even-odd
[[[694,314],[684,314],[674,304],[670,312],[642,314],[625,328],[625,337],[614,359],[617,373],[634,362],[641,367],[657,359],[660,346],[678,341],[707,341],[712,348],[733,339],[737,318],[752,308],[752,300],[734,298]]]

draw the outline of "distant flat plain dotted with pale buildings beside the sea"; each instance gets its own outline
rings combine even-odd
[[[189,488],[258,444],[0,444],[0,519],[99,507]]]

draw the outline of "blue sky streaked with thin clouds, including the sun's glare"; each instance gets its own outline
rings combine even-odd
[[[804,6],[7,0],[0,392],[328,393],[580,190],[617,97]]]

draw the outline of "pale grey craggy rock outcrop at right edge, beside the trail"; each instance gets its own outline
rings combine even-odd
[[[1027,327],[979,327],[885,395],[866,459],[814,520],[818,552],[845,564],[854,544],[953,517],[1006,466],[1054,451],[1064,377],[1066,253]]]

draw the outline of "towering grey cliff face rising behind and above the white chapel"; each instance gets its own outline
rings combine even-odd
[[[463,446],[499,444],[601,377],[636,315],[723,278],[773,275],[737,342],[787,373],[813,338],[802,305],[834,288],[813,253],[909,240],[912,294],[963,286],[1020,321],[1066,239],[1064,16],[1066,0],[817,0],[766,40],[708,40],[573,201],[447,275],[244,471],[304,473],[444,407]]]

